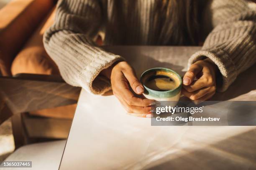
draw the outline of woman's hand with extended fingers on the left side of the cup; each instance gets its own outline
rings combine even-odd
[[[154,100],[146,99],[142,93],[143,85],[137,79],[133,68],[125,61],[115,63],[113,66],[102,70],[102,75],[111,80],[112,90],[129,115],[137,117],[153,117]],[[139,95],[136,97],[132,90]]]

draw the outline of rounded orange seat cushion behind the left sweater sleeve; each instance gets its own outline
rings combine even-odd
[[[59,70],[55,62],[47,55],[43,45],[44,31],[54,22],[55,9],[41,23],[36,32],[28,40],[25,47],[13,60],[11,72],[33,74],[57,74]]]

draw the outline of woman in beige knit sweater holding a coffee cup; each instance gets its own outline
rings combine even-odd
[[[125,109],[141,117],[152,116],[154,101],[129,90],[144,91],[123,57],[95,46],[92,38],[101,29],[105,45],[204,41],[183,78],[182,92],[192,100],[207,100],[216,88],[225,91],[256,61],[256,13],[244,0],[59,0],[44,46],[64,80],[94,94],[112,87]],[[222,80],[218,87],[216,77]]]

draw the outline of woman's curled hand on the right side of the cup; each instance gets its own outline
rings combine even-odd
[[[209,99],[216,91],[217,72],[218,66],[209,58],[195,62],[183,77],[182,93],[195,101]]]

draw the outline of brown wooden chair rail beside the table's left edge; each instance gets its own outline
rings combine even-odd
[[[0,124],[12,114],[77,103],[81,87],[68,85],[61,76],[19,74],[0,76]]]

